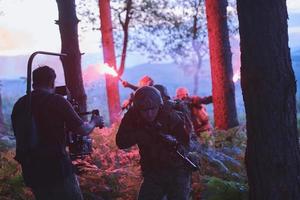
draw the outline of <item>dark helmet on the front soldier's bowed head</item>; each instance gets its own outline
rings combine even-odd
[[[159,90],[152,86],[144,86],[136,90],[133,97],[133,106],[137,109],[160,107],[163,100]]]

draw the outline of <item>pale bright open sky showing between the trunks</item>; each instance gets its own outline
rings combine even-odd
[[[300,0],[287,0],[290,45],[300,48]],[[0,55],[28,54],[36,50],[60,51],[54,0],[0,0]],[[81,51],[100,51],[100,34],[87,33]]]

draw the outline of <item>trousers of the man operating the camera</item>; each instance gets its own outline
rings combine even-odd
[[[74,174],[60,183],[34,188],[32,191],[36,200],[83,200],[78,180]]]

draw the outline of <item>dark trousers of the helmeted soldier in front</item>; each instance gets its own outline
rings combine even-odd
[[[165,171],[144,174],[138,200],[188,200],[191,190],[191,172]]]

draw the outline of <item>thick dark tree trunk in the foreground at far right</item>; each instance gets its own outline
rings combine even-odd
[[[250,200],[299,200],[296,82],[282,0],[238,0]]]

